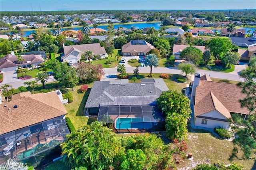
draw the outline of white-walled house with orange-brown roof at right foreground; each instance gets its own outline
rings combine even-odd
[[[236,84],[216,82],[206,75],[200,77],[200,74],[195,74],[190,100],[194,110],[194,125],[229,129],[231,114],[243,115],[245,118],[250,113],[239,102],[245,96]]]

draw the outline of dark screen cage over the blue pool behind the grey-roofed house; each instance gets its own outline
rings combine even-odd
[[[114,132],[146,132],[164,130],[164,116],[156,106],[100,106],[97,121],[112,127]]]

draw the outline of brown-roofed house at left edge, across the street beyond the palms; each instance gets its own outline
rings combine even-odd
[[[42,55],[21,55],[24,61],[17,61],[16,55],[7,54],[0,59],[0,69],[3,72],[16,71],[19,67],[38,67],[44,62]]]

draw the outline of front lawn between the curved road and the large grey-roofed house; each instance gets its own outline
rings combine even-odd
[[[151,77],[147,77],[147,75],[149,75],[149,73],[140,73],[138,75],[138,80],[136,80],[135,82],[137,83],[139,81],[139,79],[151,79]],[[161,73],[154,73],[154,77],[152,78],[161,78],[160,77]],[[189,84],[191,82],[190,79],[187,80],[187,83],[177,83],[175,81],[175,77],[178,76],[176,74],[169,74],[169,78],[168,79],[164,79],[164,82],[166,83],[167,87],[169,88],[169,90],[176,90],[176,91],[181,91],[184,87],[186,87],[186,84]],[[133,83],[134,81],[132,80],[132,77],[135,77],[135,75],[133,75],[132,73],[130,74],[129,77],[129,82]]]

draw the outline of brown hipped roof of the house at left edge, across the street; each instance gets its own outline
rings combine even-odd
[[[20,65],[26,65],[26,64],[35,64],[35,63],[42,63],[44,62],[44,59],[40,55],[22,55],[22,58],[25,59],[22,63],[17,62],[16,55],[7,54],[6,56],[2,57],[0,59],[0,68],[8,68],[8,67],[16,67]],[[28,63],[28,61],[30,61]]]

